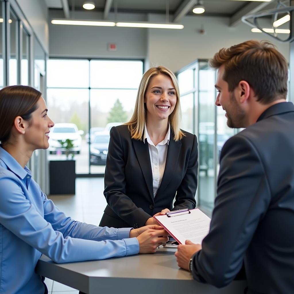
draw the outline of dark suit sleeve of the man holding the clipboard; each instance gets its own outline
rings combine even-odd
[[[245,251],[270,203],[271,191],[260,155],[241,133],[221,151],[218,190],[210,231],[193,257],[193,277],[228,285],[242,267]]]

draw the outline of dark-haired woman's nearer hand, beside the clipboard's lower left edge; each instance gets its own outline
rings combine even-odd
[[[154,253],[156,248],[168,241],[166,230],[148,229],[137,237],[140,250],[139,253]]]

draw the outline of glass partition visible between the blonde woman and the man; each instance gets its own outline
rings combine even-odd
[[[235,131],[226,124],[225,113],[215,106],[216,71],[207,60],[196,60],[177,74],[180,93],[181,128],[198,139],[197,206],[209,214],[216,197],[220,150]]]

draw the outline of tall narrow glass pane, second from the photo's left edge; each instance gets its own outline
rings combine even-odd
[[[10,12],[10,58],[9,58],[9,85],[18,83],[18,53],[19,53],[19,20],[16,15]]]

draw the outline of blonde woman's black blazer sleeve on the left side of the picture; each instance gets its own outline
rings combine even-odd
[[[145,225],[152,216],[137,207],[126,195],[126,177],[121,136],[117,128],[110,131],[110,142],[104,176],[104,196],[111,209],[126,223],[138,227]]]

